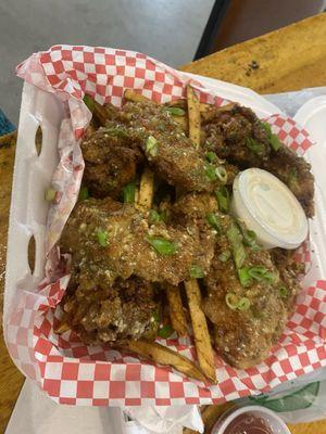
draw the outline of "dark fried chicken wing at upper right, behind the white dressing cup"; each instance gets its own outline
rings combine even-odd
[[[221,158],[240,168],[260,167],[285,182],[308,217],[314,215],[314,178],[311,166],[294,151],[271,145],[271,129],[248,107],[216,108],[208,119],[205,144]],[[273,139],[272,139],[273,140]]]

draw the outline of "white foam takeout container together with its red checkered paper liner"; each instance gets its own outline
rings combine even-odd
[[[11,357],[26,376],[60,404],[201,405],[255,395],[326,366],[326,278],[321,261],[325,257],[326,219],[318,187],[322,170],[315,170],[325,150],[315,152],[318,144],[312,143],[306,131],[272,104],[256,108],[254,102],[251,104],[253,92],[241,98],[236,87],[222,84],[220,93],[210,80],[181,74],[131,51],[55,46],[33,54],[17,67],[17,74],[25,85],[10,216],[4,335]],[[280,341],[266,360],[247,370],[234,369],[216,355],[216,385],[105,345],[86,346],[71,332],[53,333],[55,306],[70,279],[66,258],[58,255],[55,241],[76,202],[83,177],[78,140],[90,119],[83,102],[85,92],[100,103],[110,101],[120,106],[126,88],[167,102],[185,97],[187,84],[201,102],[218,106],[229,99],[251,106],[285,144],[308,157],[317,186],[310,240],[298,254],[308,272]],[[35,136],[39,125],[42,146],[38,154]],[[51,183],[60,194],[57,204],[49,206],[43,193]],[[33,273],[27,257],[30,239],[36,244]],[[160,343],[196,360],[191,336],[160,339]]]

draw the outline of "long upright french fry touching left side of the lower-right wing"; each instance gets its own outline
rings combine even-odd
[[[216,383],[214,353],[206,318],[201,309],[201,294],[197,280],[185,282],[185,289],[188,298],[198,361],[206,378],[212,383]]]

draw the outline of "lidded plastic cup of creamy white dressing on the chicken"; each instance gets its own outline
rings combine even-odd
[[[250,168],[238,174],[233,188],[231,214],[255,232],[265,248],[297,248],[305,240],[302,206],[274,175]]]

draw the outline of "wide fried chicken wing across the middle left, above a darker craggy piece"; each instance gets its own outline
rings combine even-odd
[[[178,284],[189,279],[192,266],[208,272],[214,234],[191,234],[149,219],[129,204],[110,199],[80,202],[61,237],[61,248],[72,253],[78,284],[111,285],[117,277],[138,276],[150,282]]]

